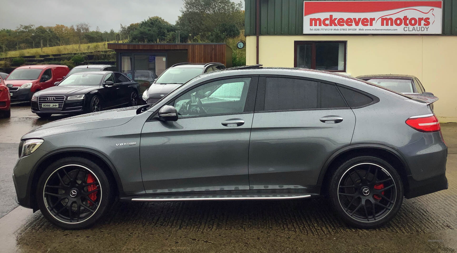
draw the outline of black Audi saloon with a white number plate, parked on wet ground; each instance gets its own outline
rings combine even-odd
[[[136,106],[138,102],[139,84],[119,72],[75,73],[54,85],[33,94],[32,113],[46,118]]]

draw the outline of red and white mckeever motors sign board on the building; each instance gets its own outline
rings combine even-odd
[[[303,34],[441,34],[442,1],[305,1]]]

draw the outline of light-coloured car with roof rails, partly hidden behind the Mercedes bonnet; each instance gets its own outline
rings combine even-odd
[[[179,63],[171,66],[162,73],[151,86],[143,92],[143,100],[148,104],[155,104],[168,93],[181,86],[183,83],[202,73],[214,70],[223,70],[225,65],[218,62],[212,63]]]

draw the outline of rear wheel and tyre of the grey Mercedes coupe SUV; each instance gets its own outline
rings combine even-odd
[[[375,156],[345,161],[329,183],[330,202],[349,225],[362,229],[383,226],[398,213],[403,202],[398,172]]]

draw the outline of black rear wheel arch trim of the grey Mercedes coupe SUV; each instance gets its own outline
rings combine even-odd
[[[355,156],[377,156],[387,160],[399,173],[405,188],[408,188],[408,176],[411,171],[408,163],[404,160],[403,156],[393,148],[381,144],[355,144],[341,148],[333,153],[321,169],[318,178],[318,185],[322,186],[321,189],[326,191],[329,183],[329,178],[336,170],[336,168],[344,161],[351,159]]]

